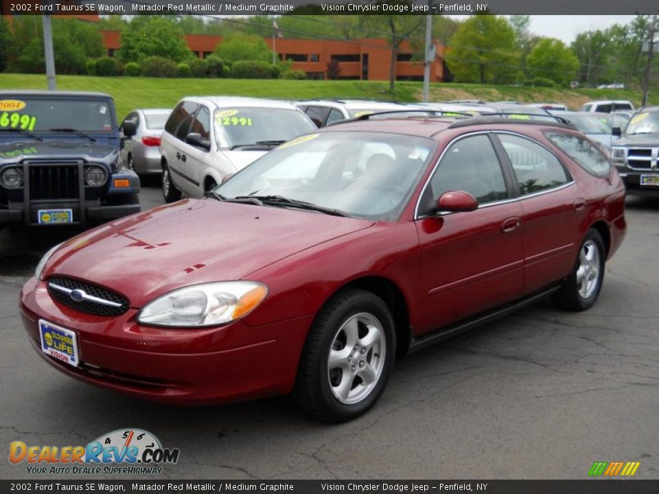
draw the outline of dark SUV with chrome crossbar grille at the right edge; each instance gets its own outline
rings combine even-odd
[[[638,110],[614,141],[611,158],[627,194],[659,196],[659,106]]]

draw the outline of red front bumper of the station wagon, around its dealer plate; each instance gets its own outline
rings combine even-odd
[[[32,278],[21,291],[21,316],[34,349],[58,371],[124,394],[178,404],[244,401],[292,390],[312,317],[250,326],[244,320],[206,329],[137,324],[137,309],[117,317],[56,304]],[[38,320],[76,332],[78,367],[41,351]]]

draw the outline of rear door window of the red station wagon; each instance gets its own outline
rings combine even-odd
[[[497,137],[513,165],[522,196],[570,182],[562,163],[540,144],[508,134]]]

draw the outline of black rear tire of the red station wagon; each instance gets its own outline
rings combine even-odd
[[[597,266],[597,274],[593,279],[594,285],[591,290],[586,290],[583,287],[583,281],[579,281],[579,269],[582,266],[582,256],[586,255],[590,249],[597,249],[597,261],[593,262],[593,266]],[[597,301],[599,292],[602,289],[602,283],[604,281],[604,266],[605,266],[605,257],[606,252],[604,249],[604,242],[602,237],[597,230],[589,230],[586,233],[586,236],[583,237],[581,241],[581,246],[579,246],[579,254],[577,255],[577,260],[575,261],[575,267],[573,268],[570,276],[564,282],[563,286],[558,292],[553,294],[552,299],[557,307],[573,311],[583,311],[590,309],[592,305]],[[588,277],[588,274],[592,272],[592,268],[584,268],[586,274],[583,276]],[[583,277],[582,277],[583,279]],[[587,283],[587,281],[586,281]],[[586,293],[583,293],[586,292]],[[588,293],[590,292],[590,293]]]

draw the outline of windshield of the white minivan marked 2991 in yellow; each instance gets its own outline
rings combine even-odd
[[[316,130],[301,111],[288,108],[224,108],[214,118],[220,148],[282,143]]]

